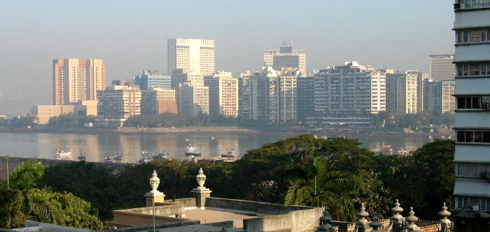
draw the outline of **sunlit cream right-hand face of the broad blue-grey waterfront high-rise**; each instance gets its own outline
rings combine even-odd
[[[371,72],[371,114],[386,111],[386,71]]]

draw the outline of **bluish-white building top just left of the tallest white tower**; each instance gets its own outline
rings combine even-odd
[[[169,90],[171,88],[171,76],[161,75],[158,70],[143,70],[143,74],[134,76],[134,84],[139,86],[140,90],[149,90],[151,88],[162,88]]]

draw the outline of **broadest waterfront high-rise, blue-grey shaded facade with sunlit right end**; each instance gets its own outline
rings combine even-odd
[[[357,62],[346,62],[343,66],[328,67],[314,75],[314,116],[307,119],[309,125],[370,126],[372,109],[377,110],[384,99],[381,97],[382,78],[373,79],[374,69]],[[372,85],[376,85],[374,92]],[[374,107],[374,103],[375,107]]]

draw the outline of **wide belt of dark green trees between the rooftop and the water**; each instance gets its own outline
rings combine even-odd
[[[454,184],[454,142],[437,140],[409,156],[380,156],[360,148],[357,139],[316,139],[300,135],[265,144],[235,163],[202,165],[206,186],[216,197],[260,200],[286,205],[327,205],[338,220],[355,219],[356,209],[390,217],[396,198],[417,216],[435,219],[449,205]],[[64,163],[47,168],[38,184],[69,191],[99,209],[141,207],[156,170],[159,190],[169,198],[190,197],[198,165],[190,161],[155,161],[117,168],[94,163]],[[73,182],[76,179],[76,182]],[[405,214],[408,210],[405,210]]]

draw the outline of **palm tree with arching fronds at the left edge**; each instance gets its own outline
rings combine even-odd
[[[33,191],[43,174],[40,161],[26,161],[13,170],[8,184],[0,181],[0,227],[22,227],[26,219],[56,223],[57,209]]]

